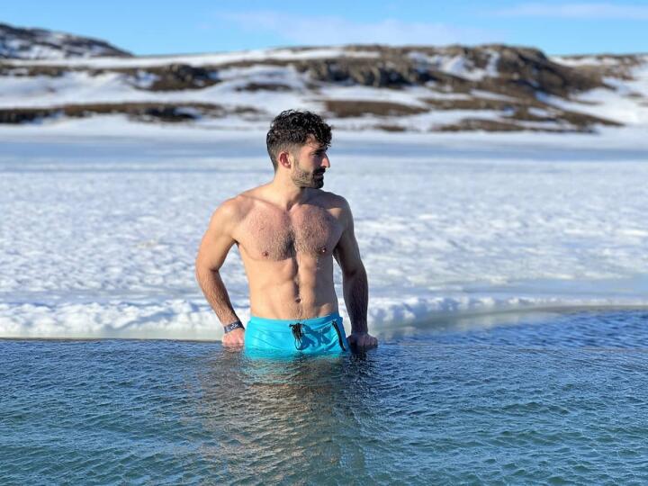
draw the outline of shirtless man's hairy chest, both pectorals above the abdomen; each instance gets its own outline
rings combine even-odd
[[[284,260],[297,255],[331,255],[342,231],[335,213],[320,206],[304,205],[293,211],[275,208],[250,211],[236,236],[247,256]]]

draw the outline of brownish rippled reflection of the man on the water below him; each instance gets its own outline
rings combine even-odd
[[[332,472],[329,479],[344,482],[347,467],[364,464],[361,448],[337,440],[358,430],[356,414],[368,413],[369,383],[352,385],[358,362],[366,363],[366,357],[264,361],[228,351],[215,356],[199,377],[197,415],[202,428],[219,438],[220,459],[227,458],[224,473],[293,482],[306,479],[308,470],[321,477]],[[277,457],[284,459],[275,464]]]

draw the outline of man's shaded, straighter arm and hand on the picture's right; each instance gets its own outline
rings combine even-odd
[[[351,208],[344,198],[341,199],[341,220],[345,229],[333,255],[342,269],[342,289],[351,319],[351,334],[348,336],[348,341],[350,345],[356,347],[374,347],[378,345],[378,339],[371,336],[367,328],[369,284],[365,266],[360,258]]]

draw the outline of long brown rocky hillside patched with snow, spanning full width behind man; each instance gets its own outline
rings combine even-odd
[[[342,130],[594,132],[648,124],[648,57],[362,45],[0,61],[2,123],[125,116],[247,129],[287,108]]]

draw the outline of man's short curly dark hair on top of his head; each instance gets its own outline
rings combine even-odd
[[[266,136],[268,155],[275,167],[275,172],[277,169],[277,154],[282,150],[301,147],[306,143],[310,135],[323,148],[330,147],[331,127],[322,120],[319,114],[286,110],[275,117]]]

